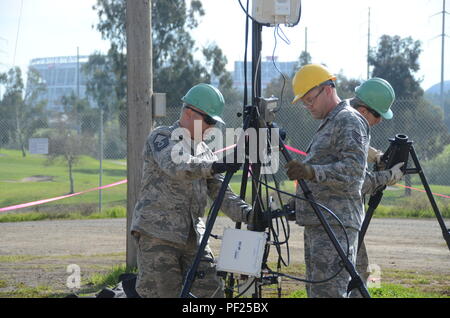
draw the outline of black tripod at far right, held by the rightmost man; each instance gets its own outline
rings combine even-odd
[[[439,226],[442,230],[442,235],[444,236],[444,240],[447,243],[447,247],[450,250],[450,230],[446,227],[444,219],[442,217],[441,212],[439,211],[439,207],[436,204],[436,201],[434,200],[433,193],[431,192],[430,186],[428,185],[428,181],[425,177],[425,174],[423,173],[422,167],[420,166],[419,159],[417,158],[416,151],[414,150],[414,147],[412,145],[412,141],[408,140],[408,136],[398,134],[395,136],[395,138],[389,139],[390,146],[382,156],[381,160],[386,163],[386,167],[392,168],[395,164],[399,162],[404,162],[405,165],[402,167],[404,169],[403,171],[405,174],[419,174],[420,180],[422,181],[422,185],[425,188],[425,191],[427,193],[428,199],[430,200],[430,204],[433,208],[434,214],[439,222]],[[406,164],[408,163],[408,157],[411,156],[411,159],[414,162],[415,168],[408,169],[406,167]],[[358,249],[361,247],[361,244],[364,240],[364,236],[367,232],[367,228],[369,227],[370,221],[372,219],[372,216],[375,212],[375,209],[378,207],[381,198],[383,197],[383,191],[386,188],[384,186],[382,189],[377,191],[374,195],[372,195],[369,199],[366,216],[364,218],[363,224],[361,226],[361,231],[359,234],[358,239]]]

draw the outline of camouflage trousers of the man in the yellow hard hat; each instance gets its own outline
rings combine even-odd
[[[347,252],[347,240],[340,226],[331,225],[338,242]],[[349,240],[349,260],[356,262],[356,249],[358,245],[358,231],[345,228]],[[305,225],[305,264],[306,279],[321,281],[330,278],[341,268],[341,258],[333,243],[323,229],[322,225]],[[306,292],[310,298],[347,298],[347,287],[350,274],[343,268],[333,279],[324,283],[307,283]]]

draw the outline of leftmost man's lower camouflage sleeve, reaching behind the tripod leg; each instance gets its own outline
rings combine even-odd
[[[217,198],[223,179],[224,177],[221,174],[215,174],[213,178],[208,179],[208,196],[211,200]],[[227,186],[220,209],[234,222],[246,222],[245,210],[249,208],[251,208],[251,206]]]

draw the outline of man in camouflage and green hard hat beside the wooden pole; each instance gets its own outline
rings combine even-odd
[[[223,123],[220,91],[198,84],[182,101],[180,120],[154,129],[144,147],[141,191],[131,225],[138,247],[136,290],[141,297],[179,297],[205,230],[207,197],[216,198],[223,181],[220,173],[241,166],[219,163],[203,142],[208,128]],[[251,207],[229,188],[221,210],[235,222],[247,222],[251,213]],[[191,292],[196,297],[224,296],[209,247]]]

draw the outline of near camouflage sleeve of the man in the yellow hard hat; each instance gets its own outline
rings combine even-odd
[[[354,116],[342,116],[337,120],[333,132],[333,151],[339,160],[325,165],[312,165],[316,181],[333,187],[360,187],[370,141],[368,126]]]

